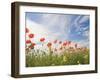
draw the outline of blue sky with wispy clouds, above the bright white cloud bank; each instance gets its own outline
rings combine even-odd
[[[77,14],[26,13],[26,21],[39,25],[37,30],[44,29],[49,39],[71,40],[87,47],[89,47],[89,18],[88,15]],[[28,24],[27,22],[27,26]],[[34,32],[36,31],[33,30]]]

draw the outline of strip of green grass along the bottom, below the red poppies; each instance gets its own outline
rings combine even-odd
[[[26,54],[26,67],[38,66],[60,66],[60,65],[81,65],[89,64],[89,50],[77,52],[63,52],[62,55],[46,53]]]

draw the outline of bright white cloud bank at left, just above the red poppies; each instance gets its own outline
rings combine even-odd
[[[26,27],[30,30],[28,34],[30,33],[35,34],[35,37],[32,41],[36,43],[38,43],[40,38],[42,37],[45,38],[46,42],[49,42],[49,41],[54,41],[55,39],[58,39],[59,36],[61,36],[61,32],[53,33],[52,31],[49,30],[49,28],[46,28],[46,26],[31,21],[29,19],[26,19]],[[26,39],[29,39],[29,37],[26,36]]]

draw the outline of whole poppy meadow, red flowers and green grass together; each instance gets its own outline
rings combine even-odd
[[[37,38],[26,28],[26,67],[89,64],[89,48],[70,40]]]

